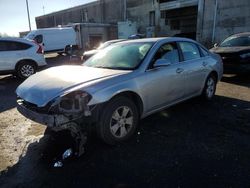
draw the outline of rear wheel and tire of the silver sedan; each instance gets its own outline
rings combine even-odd
[[[210,74],[205,82],[202,97],[205,100],[211,100],[215,95],[217,79],[214,74]]]

